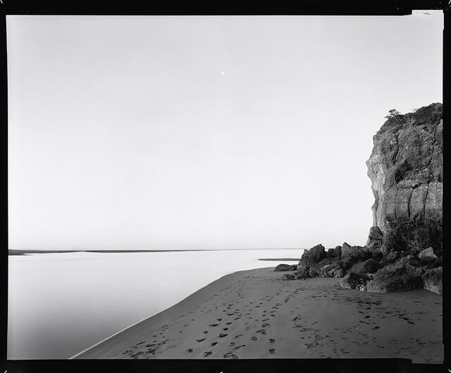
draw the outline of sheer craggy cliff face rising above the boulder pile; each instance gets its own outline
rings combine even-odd
[[[375,197],[373,226],[384,233],[383,250],[417,252],[430,245],[441,253],[442,118],[442,104],[431,104],[392,116],[373,136],[366,166]],[[420,237],[407,237],[419,232]]]

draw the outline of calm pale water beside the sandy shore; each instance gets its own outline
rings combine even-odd
[[[301,254],[296,249],[10,256],[8,359],[66,359],[221,276],[279,264],[259,258]]]

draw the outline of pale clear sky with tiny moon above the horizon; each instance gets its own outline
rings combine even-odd
[[[7,16],[9,247],[364,245],[372,136],[443,13]]]

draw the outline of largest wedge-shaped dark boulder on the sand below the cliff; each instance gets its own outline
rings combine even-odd
[[[423,284],[423,270],[412,266],[411,259],[412,256],[407,255],[379,269],[373,279],[366,283],[366,290],[371,293],[388,293],[420,288]]]

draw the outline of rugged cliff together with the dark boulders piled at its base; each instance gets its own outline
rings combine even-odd
[[[284,280],[341,277],[343,288],[442,293],[442,105],[390,116],[366,161],[375,197],[364,247],[304,250]],[[293,270],[280,264],[276,270]]]

